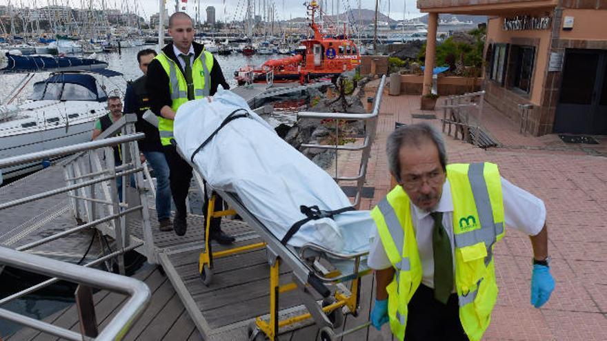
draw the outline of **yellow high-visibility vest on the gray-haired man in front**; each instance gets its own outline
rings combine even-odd
[[[459,320],[472,341],[481,340],[497,300],[493,246],[504,237],[501,178],[493,163],[447,166],[453,201],[455,287]],[[388,291],[390,329],[404,340],[408,303],[422,268],[410,215],[410,200],[397,186],[371,211],[386,255],[395,268]]]

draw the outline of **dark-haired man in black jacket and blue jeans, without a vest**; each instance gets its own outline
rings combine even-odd
[[[137,132],[146,134],[146,137],[138,143],[141,162],[148,161],[148,165],[154,169],[156,176],[156,213],[160,231],[172,231],[168,164],[160,144],[158,128],[143,119],[143,113],[150,109],[150,96],[148,96],[148,90],[146,89],[146,74],[150,62],[156,55],[156,51],[149,48],[137,53],[137,63],[139,63],[139,69],[143,72],[143,76],[129,83],[126,87],[124,112],[137,114],[135,128]]]

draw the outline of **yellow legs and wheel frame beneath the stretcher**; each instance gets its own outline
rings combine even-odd
[[[254,249],[261,249],[262,247],[266,247],[266,242],[256,242],[250,245],[244,245],[241,247],[232,247],[231,249],[224,249],[221,251],[212,251],[211,243],[209,240],[210,233],[210,222],[211,218],[219,218],[223,216],[231,216],[237,214],[237,211],[234,209],[224,209],[223,211],[215,211],[215,200],[217,199],[217,194],[212,194],[209,199],[208,209],[206,212],[205,218],[205,231],[204,231],[204,250],[200,253],[199,261],[198,261],[198,272],[203,280],[205,285],[209,285],[212,280],[212,268],[213,268],[213,258],[218,257],[226,257],[233,254],[239,254],[241,252],[250,251]],[[280,258],[276,258],[275,262],[270,265],[270,318],[269,320],[264,320],[261,316],[255,318],[255,327],[250,326],[248,330],[249,340],[265,340],[267,337],[270,341],[274,341],[279,334],[279,329],[283,327],[287,327],[292,324],[296,324],[312,318],[310,313],[303,313],[298,316],[293,316],[291,318],[286,318],[284,320],[279,320],[279,296],[281,293],[286,293],[288,291],[292,291],[297,289],[297,285],[295,282],[290,282],[285,285],[280,285],[279,283],[279,268],[280,268]],[[326,277],[337,277],[339,273],[329,273]],[[350,294],[346,295],[344,293],[340,293],[339,291],[335,291],[333,294],[333,298],[335,298],[335,302],[332,302],[325,307],[322,307],[322,311],[327,315],[331,315],[335,313],[333,316],[334,322],[335,319],[341,318],[343,311],[341,309],[343,307],[348,307],[350,313],[354,316],[358,313],[358,306],[360,300],[360,285],[361,278],[357,277],[352,280],[352,286],[350,287]],[[337,326],[334,326],[337,327]],[[255,330],[257,329],[257,330]],[[265,337],[259,332],[265,334]],[[255,335],[254,335],[255,333]],[[260,338],[261,337],[261,338]]]

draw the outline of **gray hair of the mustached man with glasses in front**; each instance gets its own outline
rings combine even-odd
[[[428,123],[417,123],[397,128],[386,142],[386,154],[388,155],[388,168],[390,173],[401,182],[401,166],[399,163],[399,151],[401,147],[415,146],[419,147],[426,141],[432,141],[439,151],[439,160],[441,166],[446,172],[447,152],[445,149],[445,140],[441,132]]]

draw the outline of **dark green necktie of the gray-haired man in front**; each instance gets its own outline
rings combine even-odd
[[[434,251],[434,298],[447,304],[453,289],[453,258],[451,242],[443,227],[443,212],[432,212],[432,250]]]

